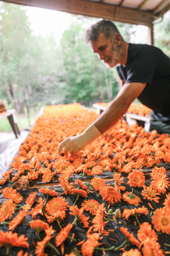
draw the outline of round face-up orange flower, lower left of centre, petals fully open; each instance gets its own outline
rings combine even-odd
[[[62,196],[54,197],[46,204],[45,210],[48,214],[53,215],[57,211],[66,211],[68,205],[69,202]]]

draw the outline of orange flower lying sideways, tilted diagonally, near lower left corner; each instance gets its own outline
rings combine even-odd
[[[25,220],[25,217],[29,214],[28,210],[30,210],[30,205],[26,205],[23,207],[23,211],[20,210],[16,217],[10,221],[9,223],[9,230],[14,230],[20,223],[28,222]]]

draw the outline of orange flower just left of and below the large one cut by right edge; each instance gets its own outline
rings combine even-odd
[[[148,237],[158,240],[158,236],[155,233],[155,230],[152,230],[151,225],[148,222],[143,222],[138,230],[138,239],[143,243]]]

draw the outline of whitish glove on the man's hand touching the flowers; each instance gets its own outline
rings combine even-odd
[[[91,141],[99,137],[101,133],[95,125],[90,125],[80,135],[68,137],[63,140],[58,146],[58,153],[64,148],[64,154],[69,150],[70,153],[78,153],[84,147],[86,147]]]

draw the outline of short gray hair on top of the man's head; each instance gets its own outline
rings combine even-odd
[[[111,20],[100,20],[86,29],[86,32],[84,34],[85,43],[88,44],[92,41],[96,41],[99,35],[102,33],[104,33],[106,38],[111,39],[113,39],[114,35],[120,34],[120,32]],[[121,38],[122,41],[124,41],[122,36]]]

